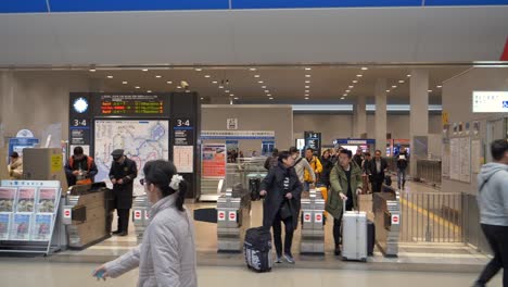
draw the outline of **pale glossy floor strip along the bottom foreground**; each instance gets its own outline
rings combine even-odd
[[[91,276],[96,264],[64,264],[30,262],[27,259],[0,260],[1,286],[80,287],[80,286],[136,286],[138,271],[116,279],[98,282]],[[23,269],[23,271],[22,271]],[[257,274],[243,267],[204,267],[198,270],[200,286],[220,287],[308,287],[308,286],[471,286],[475,274],[417,273],[351,270],[275,269]],[[490,286],[500,286],[500,276]]]

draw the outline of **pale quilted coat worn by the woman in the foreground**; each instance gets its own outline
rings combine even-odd
[[[194,227],[175,205],[176,194],[157,201],[143,240],[134,250],[105,264],[115,278],[139,266],[138,286],[198,286]]]

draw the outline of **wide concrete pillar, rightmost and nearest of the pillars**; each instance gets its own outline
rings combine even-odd
[[[409,136],[411,141],[410,172],[411,176],[417,175],[417,160],[427,158],[427,154],[417,154],[417,150],[426,148],[426,142],[415,142],[416,136],[429,136],[429,72],[426,70],[411,71],[409,83]],[[421,145],[420,145],[421,144]],[[423,149],[423,152],[424,149]]]

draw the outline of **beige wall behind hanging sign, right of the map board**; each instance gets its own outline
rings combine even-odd
[[[227,130],[227,118],[238,118],[238,130],[274,130],[277,148],[288,149],[294,145],[293,110],[290,105],[204,104],[201,118],[202,130]],[[239,140],[239,146],[245,155],[252,150],[259,153],[262,140]]]

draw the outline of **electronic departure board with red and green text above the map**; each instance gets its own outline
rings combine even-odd
[[[168,114],[168,98],[160,95],[100,95],[96,114],[100,116],[161,116]]]

